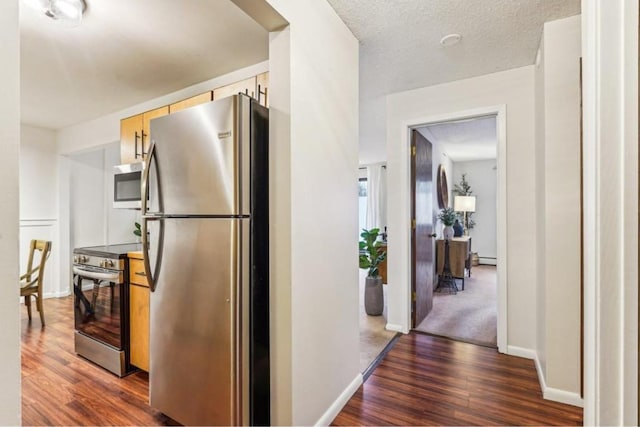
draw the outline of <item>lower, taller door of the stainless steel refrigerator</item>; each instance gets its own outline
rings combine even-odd
[[[249,422],[249,219],[163,218],[150,405],[184,425]]]

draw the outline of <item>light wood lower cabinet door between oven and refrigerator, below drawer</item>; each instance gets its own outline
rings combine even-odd
[[[149,288],[129,286],[129,347],[131,364],[149,372]]]

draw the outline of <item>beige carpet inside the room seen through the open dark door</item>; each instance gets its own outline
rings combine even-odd
[[[462,289],[461,281],[456,283]],[[496,288],[495,266],[473,267],[471,277],[465,279],[464,291],[455,295],[434,293],[433,309],[416,330],[495,347]]]

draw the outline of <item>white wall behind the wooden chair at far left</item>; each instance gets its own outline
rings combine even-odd
[[[58,240],[58,156],[55,132],[20,127],[20,271],[26,271],[32,239],[52,242],[45,268],[44,297],[68,294],[61,286]]]

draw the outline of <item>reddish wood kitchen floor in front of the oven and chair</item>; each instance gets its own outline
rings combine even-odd
[[[22,313],[23,425],[166,425],[147,405],[148,376],[118,378],[73,351],[73,300],[44,301],[46,326],[37,312]]]

